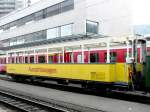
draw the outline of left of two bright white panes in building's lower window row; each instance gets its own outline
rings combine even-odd
[[[59,37],[59,28],[52,28],[47,30],[47,39]]]

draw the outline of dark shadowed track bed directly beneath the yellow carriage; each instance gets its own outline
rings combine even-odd
[[[4,77],[2,78],[3,80],[11,81],[10,78]],[[95,93],[92,90],[83,90],[82,88],[79,87],[70,87],[70,86],[65,86],[65,85],[57,85],[57,84],[51,84],[51,83],[43,83],[43,82],[27,82],[27,84],[31,85],[36,85],[36,86],[41,86],[41,87],[48,87],[48,88],[53,88],[53,89],[58,89],[58,90],[63,90],[63,91],[70,91],[70,92],[76,92],[76,93],[81,93],[81,94],[90,94],[90,95],[96,95],[96,96],[102,96],[102,97],[107,97],[107,98],[114,98],[114,99],[120,99],[120,100],[125,100],[125,101],[132,101],[132,102],[138,102],[138,103],[144,103],[144,104],[150,104],[150,93],[149,94],[144,94],[144,92],[139,92],[139,91],[108,91],[106,93]]]

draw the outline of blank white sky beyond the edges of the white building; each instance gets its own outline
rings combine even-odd
[[[31,0],[32,4],[40,0]],[[150,0],[131,0],[133,1],[133,24],[150,24]]]

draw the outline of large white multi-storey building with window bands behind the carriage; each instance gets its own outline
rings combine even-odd
[[[120,37],[132,34],[130,0],[41,0],[0,18],[1,49],[7,55],[16,57],[40,52],[59,52],[59,48],[66,51],[66,42],[72,45],[69,50],[77,44],[83,50],[85,42],[91,44],[102,40],[107,43],[105,38],[118,37],[119,40]],[[55,50],[50,50],[54,46]],[[97,44],[94,47],[96,46]],[[37,49],[39,50],[36,51]],[[82,52],[81,57],[83,55]],[[36,58],[33,60],[36,61]],[[19,58],[13,61],[17,62]],[[84,59],[80,61],[83,62]]]

